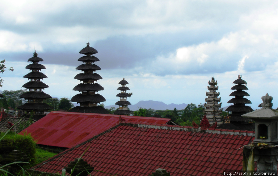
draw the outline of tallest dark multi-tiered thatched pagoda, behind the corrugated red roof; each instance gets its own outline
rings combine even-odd
[[[77,74],[74,77],[74,79],[78,79],[82,81],[82,83],[75,86],[73,90],[77,90],[81,93],[73,96],[70,101],[80,103],[80,106],[76,106],[69,111],[109,114],[106,109],[98,105],[100,102],[106,101],[102,95],[97,93],[99,90],[104,90],[103,87],[95,83],[97,80],[102,79],[102,77],[97,73],[93,73],[96,70],[101,70],[99,66],[94,64],[94,62],[99,61],[99,59],[92,56],[98,52],[95,48],[90,47],[90,43],[87,43],[87,46],[79,53],[85,54],[85,56],[78,59],[78,61],[84,63],[76,67],[76,70],[81,70],[84,73]]]

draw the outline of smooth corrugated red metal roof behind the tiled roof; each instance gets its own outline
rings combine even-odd
[[[32,124],[27,131],[37,144],[73,147],[119,123],[120,115],[52,111]],[[169,118],[121,116],[126,122],[166,124]]]

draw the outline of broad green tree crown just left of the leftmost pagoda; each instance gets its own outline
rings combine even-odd
[[[19,98],[19,96],[24,94],[25,92],[27,92],[26,89],[11,90],[11,91],[4,90],[2,94],[5,96],[8,105],[12,108],[16,108],[20,105],[23,105],[26,102],[24,98]]]

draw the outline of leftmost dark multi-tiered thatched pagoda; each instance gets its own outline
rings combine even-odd
[[[31,72],[23,76],[23,78],[28,78],[28,80],[30,81],[24,84],[22,87],[29,89],[29,91],[19,96],[20,98],[24,98],[28,102],[17,107],[18,109],[23,110],[24,114],[26,115],[30,115],[31,111],[33,111],[35,120],[44,117],[44,112],[46,110],[53,109],[52,106],[43,103],[44,99],[52,97],[42,91],[42,89],[49,86],[41,81],[43,80],[43,78],[47,78],[47,76],[40,72],[42,69],[45,69],[45,66],[39,64],[39,62],[42,62],[44,60],[37,56],[38,54],[35,50],[34,57],[28,59],[28,62],[32,62],[32,64],[29,64],[25,67]]]

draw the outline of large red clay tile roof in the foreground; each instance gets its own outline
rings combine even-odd
[[[117,175],[150,175],[158,168],[172,176],[222,175],[223,170],[242,170],[242,145],[254,140],[255,132],[198,129],[171,125],[120,123],[90,142],[65,150],[33,169],[61,173],[75,158],[95,170]],[[245,135],[245,136],[244,136]],[[91,175],[104,176],[93,171]]]

